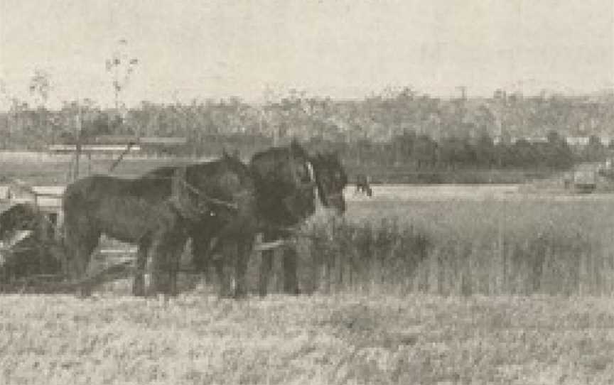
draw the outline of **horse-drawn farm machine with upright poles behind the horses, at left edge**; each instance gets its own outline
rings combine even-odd
[[[134,143],[129,141],[109,172],[122,161]],[[76,168],[69,166],[68,180],[78,178]],[[91,162],[91,158],[90,158]],[[73,162],[75,163],[75,162]],[[15,178],[1,178],[5,185],[0,192],[0,292],[63,293],[75,292],[85,286],[123,278],[134,273],[132,261],[126,259],[77,281],[71,281],[63,247],[63,232],[58,217],[63,188],[33,188]],[[126,250],[120,250],[126,254]],[[129,253],[129,251],[127,251]]]

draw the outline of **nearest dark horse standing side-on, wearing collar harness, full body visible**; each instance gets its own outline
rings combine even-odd
[[[65,190],[63,210],[70,273],[85,274],[101,234],[137,244],[136,295],[144,294],[143,269],[150,250],[154,290],[176,293],[178,254],[195,223],[204,226],[208,237],[236,239],[241,254],[251,251],[257,229],[249,169],[226,154],[136,179],[93,175],[77,180]],[[245,260],[237,258],[237,271],[245,270]],[[244,290],[237,278],[235,295]]]

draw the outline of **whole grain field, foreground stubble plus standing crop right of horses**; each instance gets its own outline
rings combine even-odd
[[[2,295],[0,383],[614,383],[612,198],[442,189],[350,191],[311,296]]]

